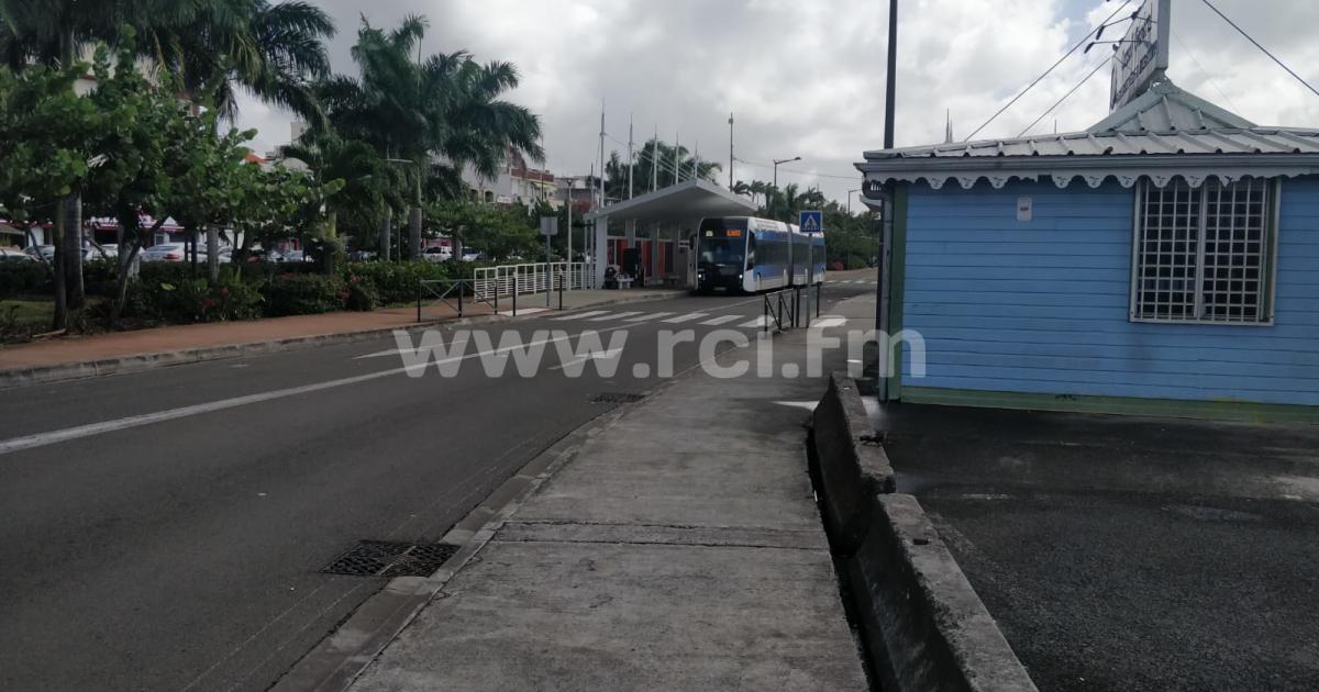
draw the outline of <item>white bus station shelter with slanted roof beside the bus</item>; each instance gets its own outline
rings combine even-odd
[[[707,216],[751,216],[756,204],[710,181],[687,181],[616,202],[587,214],[595,224],[595,281],[608,265],[623,266],[628,249],[638,250],[646,286],[695,283],[691,237]]]

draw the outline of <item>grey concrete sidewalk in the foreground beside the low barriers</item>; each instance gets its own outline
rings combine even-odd
[[[822,386],[694,372],[599,423],[352,689],[867,689],[806,468]]]

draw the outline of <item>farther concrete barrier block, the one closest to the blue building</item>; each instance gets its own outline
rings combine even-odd
[[[844,374],[830,377],[811,427],[816,457],[830,460],[816,469],[824,530],[834,551],[847,556],[861,544],[872,498],[894,490],[893,467],[874,440],[856,382]]]

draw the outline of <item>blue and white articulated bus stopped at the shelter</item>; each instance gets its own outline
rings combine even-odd
[[[753,216],[700,220],[696,291],[756,293],[824,282],[824,233]]]

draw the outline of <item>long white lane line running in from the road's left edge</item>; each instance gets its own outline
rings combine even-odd
[[[613,332],[619,330],[607,330],[607,332]],[[426,372],[429,372],[437,362],[458,362],[460,360],[479,359],[483,356],[497,356],[501,353],[508,353],[514,349],[522,349],[528,347],[534,347],[539,344],[553,344],[558,341],[570,341],[571,339],[580,335],[563,335],[550,339],[539,339],[536,341],[529,341],[526,344],[518,344],[505,348],[493,348],[491,351],[483,351],[477,353],[468,353],[466,356],[454,356],[448,359],[434,359],[426,362]],[[50,444],[58,444],[61,442],[77,440],[80,438],[90,438],[92,435],[103,435],[106,432],[113,432],[116,430],[128,430],[140,426],[149,426],[153,423],[164,423],[166,420],[177,420],[179,418],[189,418],[194,415],[210,414],[215,411],[223,411],[227,409],[236,409],[239,406],[248,406],[251,403],[261,403],[266,401],[282,399],[288,397],[297,397],[299,394],[310,394],[313,391],[323,391],[326,389],[335,389],[346,385],[356,385],[359,382],[369,382],[372,380],[380,380],[383,377],[392,377],[396,374],[402,374],[408,372],[408,366],[393,368],[390,370],[381,370],[379,373],[359,374],[355,377],[344,377],[340,380],[328,380],[324,382],[317,382],[314,385],[302,385],[288,389],[276,389],[272,391],[262,391],[260,394],[248,394],[245,397],[233,397],[230,399],[212,401],[208,403],[195,403],[193,406],[181,406],[178,409],[169,409],[166,411],[156,411],[152,414],[131,415],[128,418],[120,418],[117,420],[104,420],[100,423],[88,423],[86,426],[67,427],[63,430],[53,430],[49,432],[38,432],[36,435],[25,435],[22,438],[11,438],[8,440],[0,440],[0,456],[18,452],[22,449],[32,449],[34,447],[46,447]]]

